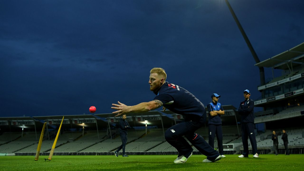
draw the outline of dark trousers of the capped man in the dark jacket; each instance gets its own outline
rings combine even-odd
[[[244,146],[243,155],[245,157],[248,157],[248,155],[249,155],[248,137],[251,142],[252,153],[253,153],[253,155],[255,155],[255,153],[257,153],[257,141],[255,140],[254,124],[252,122],[243,122],[243,123],[241,123],[241,129],[242,129],[242,141],[243,141],[243,146]]]

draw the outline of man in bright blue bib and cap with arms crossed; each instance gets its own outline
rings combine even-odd
[[[221,115],[225,114],[225,111],[219,101],[218,94],[214,93],[211,95],[212,102],[207,105],[209,111],[208,127],[209,127],[209,145],[214,148],[214,137],[216,135],[217,145],[219,147],[219,154],[222,157],[224,155],[223,150],[223,131],[222,131],[222,120]]]

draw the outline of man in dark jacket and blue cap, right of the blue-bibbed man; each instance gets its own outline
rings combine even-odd
[[[252,146],[253,157],[257,158],[257,141],[255,140],[254,134],[254,101],[249,98],[250,91],[244,90],[245,100],[240,103],[239,114],[241,115],[241,130],[242,130],[242,141],[244,146],[243,154],[239,155],[240,158],[248,157],[248,136]]]

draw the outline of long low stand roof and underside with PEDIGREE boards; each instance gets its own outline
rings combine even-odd
[[[236,110],[232,105],[223,106],[225,110]],[[207,110],[208,111],[208,110]],[[157,126],[158,128],[168,128],[172,125],[182,121],[183,117],[177,116],[178,114],[166,111],[149,111],[145,113],[127,113],[128,122],[131,127],[144,127],[147,123],[148,126]],[[225,116],[222,122],[226,124],[234,124],[239,120],[240,116]],[[0,132],[12,131],[19,132],[22,128],[25,131],[40,132],[43,123],[47,122],[47,130],[57,130],[63,115],[60,116],[35,116],[35,117],[0,117]],[[94,115],[65,115],[64,122],[61,130],[68,131],[69,129],[79,129],[86,127],[86,130],[105,130],[109,127],[118,127],[119,120],[122,116],[115,117],[113,113],[100,113]],[[145,121],[147,120],[147,121]],[[38,135],[39,136],[39,135]]]

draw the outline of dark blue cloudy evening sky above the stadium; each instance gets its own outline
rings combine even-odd
[[[261,61],[303,42],[304,1],[229,2]],[[205,106],[217,93],[238,107],[245,89],[261,98],[254,64],[224,0],[0,1],[0,117],[147,102],[154,67]]]

